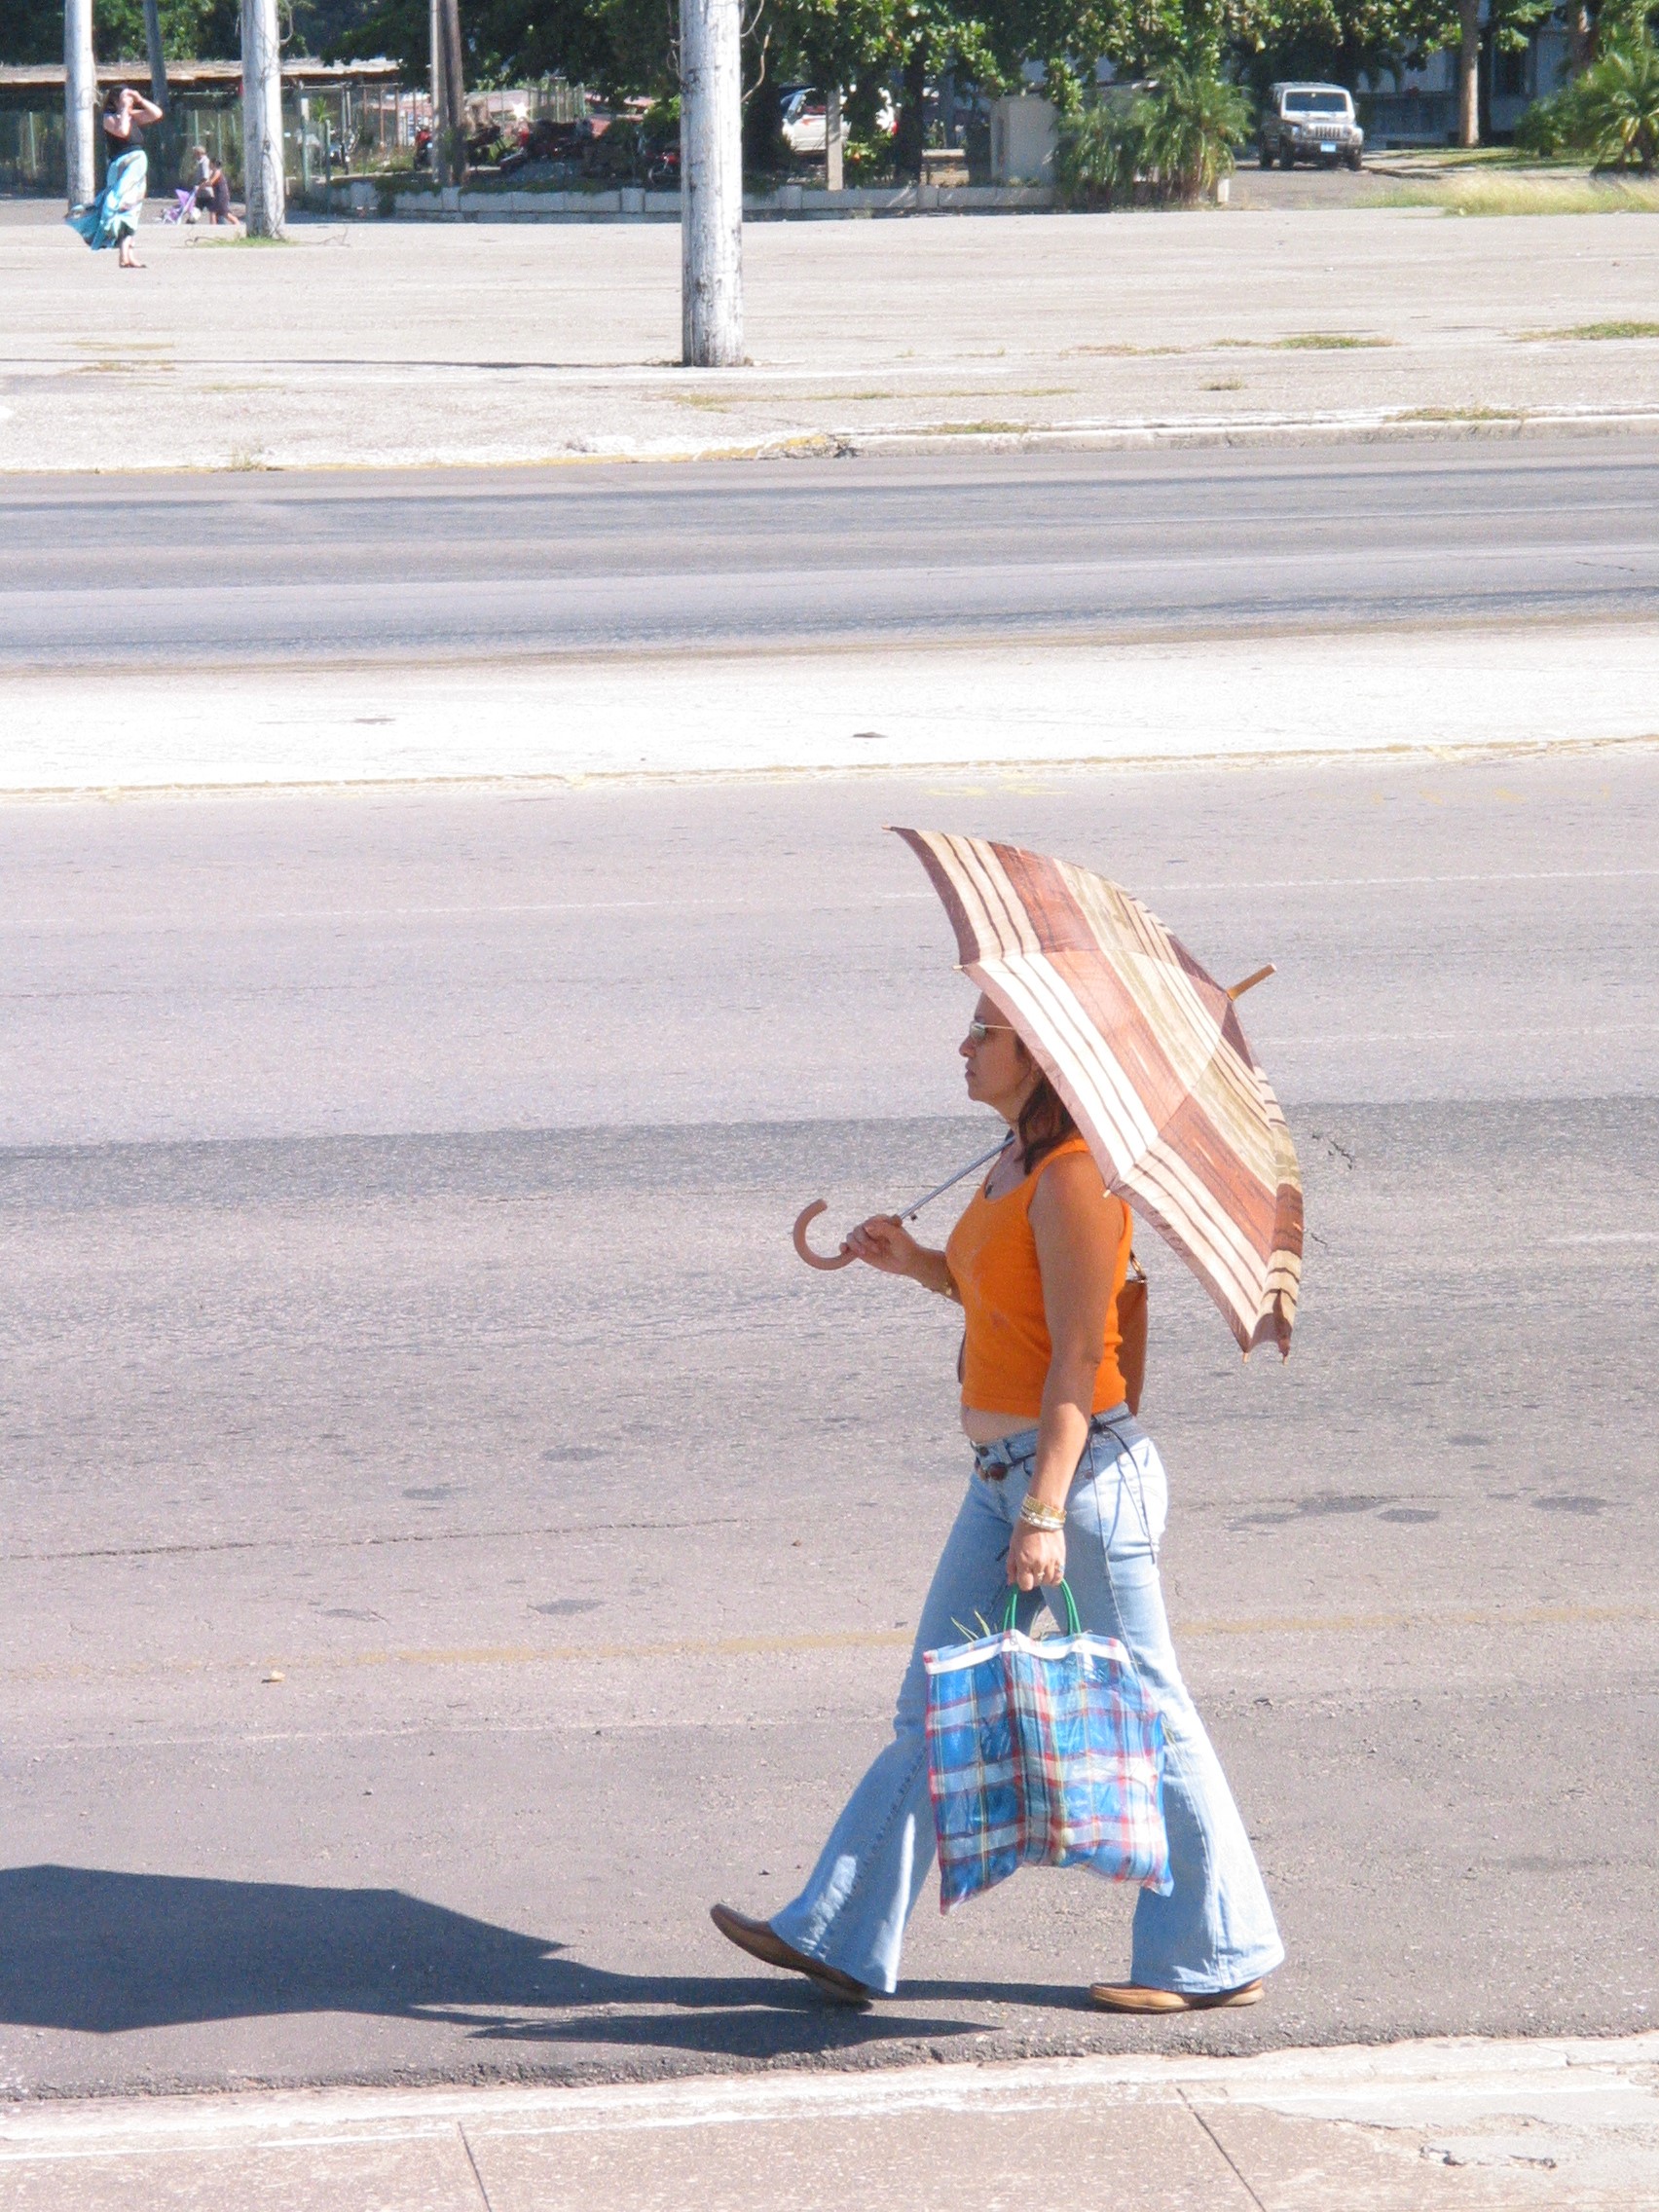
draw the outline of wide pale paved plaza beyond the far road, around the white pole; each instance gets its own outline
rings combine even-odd
[[[573,462],[1650,427],[1659,219],[759,223],[752,365],[688,374],[672,226],[144,228],[0,204],[0,469]]]

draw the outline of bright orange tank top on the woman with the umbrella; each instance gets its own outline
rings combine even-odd
[[[1068,1152],[1086,1152],[1082,1137],[1055,1146],[1035,1175],[1026,1175],[1000,1199],[987,1199],[984,1183],[973,1192],[962,1219],[945,1245],[945,1265],[962,1296],[967,1345],[962,1352],[962,1405],[982,1413],[1042,1413],[1042,1385],[1048,1380],[1053,1343],[1042,1310],[1042,1272],[1037,1239],[1031,1230],[1031,1199],[1044,1168]],[[1117,1329],[1117,1294],[1128,1274],[1130,1214],[1110,1190],[1102,1192],[1102,1234],[1117,1245],[1113,1259],[1113,1303],[1106,1307],[1106,1338],[1091,1411],[1104,1413],[1121,1405],[1124,1376],[1117,1365],[1121,1343]]]

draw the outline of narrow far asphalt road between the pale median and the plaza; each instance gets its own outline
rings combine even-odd
[[[9,478],[0,668],[1650,617],[1650,438]]]

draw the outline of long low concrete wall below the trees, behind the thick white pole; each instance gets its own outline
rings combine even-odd
[[[883,215],[1018,215],[1053,208],[1048,186],[1031,184],[896,184],[852,186],[827,192],[812,184],[783,184],[776,192],[745,192],[743,217],[765,221],[845,221]],[[327,199],[334,215],[378,215],[383,192],[372,179],[336,184]],[[619,186],[613,192],[500,192],[449,186],[434,192],[394,192],[392,212],[414,223],[677,223],[679,192]]]

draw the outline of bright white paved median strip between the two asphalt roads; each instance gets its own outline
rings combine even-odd
[[[0,794],[1650,745],[1652,624],[7,675]],[[1343,714],[1310,723],[1307,699]],[[1110,710],[1102,712],[1102,701]]]

